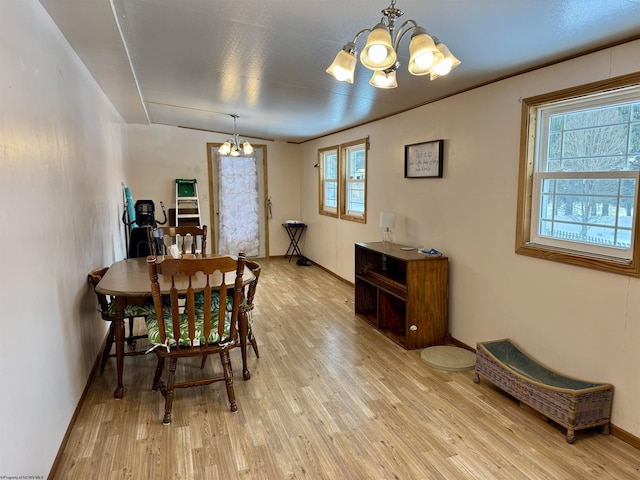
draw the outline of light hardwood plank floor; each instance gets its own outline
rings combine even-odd
[[[425,365],[419,350],[358,319],[353,288],[319,267],[261,263],[251,380],[242,380],[239,350],[231,355],[238,412],[221,383],[178,390],[163,426],[155,355],[125,358],[122,400],[110,359],[52,478],[640,478],[640,450],[623,441],[594,429],[569,445],[561,427],[473,383],[473,371]],[[221,368],[212,360],[206,368]],[[199,360],[178,370],[197,375]]]

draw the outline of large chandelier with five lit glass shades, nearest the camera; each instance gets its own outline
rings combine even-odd
[[[437,37],[430,36],[415,20],[407,20],[396,31],[396,19],[404,12],[396,8],[396,0],[382,10],[384,17],[373,28],[360,30],[353,40],[338,52],[327,73],[341,82],[353,83],[358,51],[356,41],[365,32],[369,32],[367,43],[360,54],[360,62],[373,76],[369,84],[377,88],[396,88],[396,71],[398,62],[398,46],[402,38],[411,32],[409,43],[408,70],[412,75],[430,75],[431,80],[448,74],[460,65],[460,60],[452,55],[447,46]],[[395,36],[394,36],[395,35]]]

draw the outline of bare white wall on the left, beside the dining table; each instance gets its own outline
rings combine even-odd
[[[44,478],[106,334],[126,130],[37,1],[0,2],[0,65],[0,475]]]

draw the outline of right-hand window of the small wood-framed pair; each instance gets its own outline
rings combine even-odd
[[[342,184],[340,218],[366,222],[367,142],[357,140],[340,146]]]

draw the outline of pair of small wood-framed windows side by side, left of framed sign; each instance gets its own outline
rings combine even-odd
[[[321,215],[366,223],[367,150],[366,138],[318,150]]]

